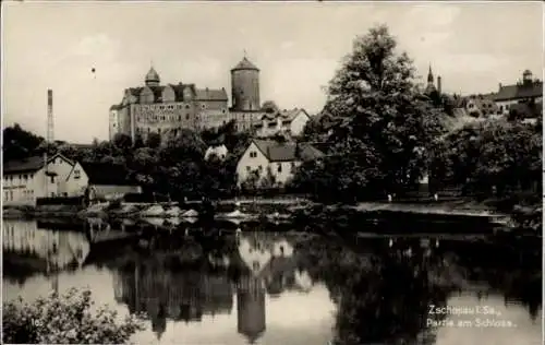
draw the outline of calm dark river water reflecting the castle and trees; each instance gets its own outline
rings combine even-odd
[[[3,299],[88,287],[137,344],[542,343],[540,240],[335,230],[5,219]]]

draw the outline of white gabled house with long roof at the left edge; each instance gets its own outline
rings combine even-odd
[[[37,198],[68,197],[66,177],[74,162],[57,154],[5,162],[3,166],[3,204],[35,205]]]

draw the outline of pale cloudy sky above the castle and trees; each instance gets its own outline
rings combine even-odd
[[[261,69],[262,102],[318,112],[324,86],[353,39],[386,24],[424,79],[443,90],[496,92],[530,69],[543,79],[541,2],[38,2],[2,1],[3,127],[46,133],[53,90],[55,139],[108,139],[109,107],[144,84],[228,90],[246,51]],[[95,73],[92,72],[95,69]]]

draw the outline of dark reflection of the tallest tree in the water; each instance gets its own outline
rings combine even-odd
[[[337,344],[433,343],[425,330],[427,308],[445,305],[449,288],[431,276],[439,263],[425,249],[383,245],[356,253],[331,241],[305,247],[311,274],[326,282],[338,305]]]

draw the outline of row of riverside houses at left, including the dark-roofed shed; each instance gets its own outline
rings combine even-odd
[[[36,205],[40,198],[95,197],[140,193],[142,188],[126,179],[122,166],[78,163],[61,154],[33,156],[5,162],[3,166],[3,205]]]

